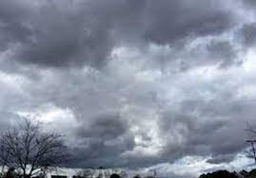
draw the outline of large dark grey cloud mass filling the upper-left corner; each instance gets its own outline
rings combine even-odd
[[[112,46],[108,18],[93,16],[88,4],[80,9],[69,1],[46,1],[24,10],[26,5],[13,4],[1,2],[5,9],[1,44],[17,45],[12,56],[16,61],[45,66],[99,65],[108,58]]]

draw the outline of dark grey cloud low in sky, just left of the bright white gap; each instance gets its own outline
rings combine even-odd
[[[97,116],[91,124],[81,125],[75,135],[82,143],[71,151],[75,159],[72,163],[74,168],[78,165],[81,168],[128,166],[120,157],[120,152],[135,146],[127,120],[116,114]]]

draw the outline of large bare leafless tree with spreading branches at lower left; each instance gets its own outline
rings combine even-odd
[[[43,132],[29,119],[0,135],[0,163],[20,169],[24,178],[62,166],[68,157],[61,134]]]

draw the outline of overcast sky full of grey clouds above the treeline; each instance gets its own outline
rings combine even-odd
[[[71,168],[241,169],[255,0],[1,0],[0,130],[66,135]]]

